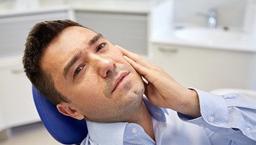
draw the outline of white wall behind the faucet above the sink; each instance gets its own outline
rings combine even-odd
[[[175,0],[175,23],[205,25],[205,19],[195,15],[197,12],[207,13],[209,8],[218,10],[219,26],[243,26],[246,0]]]

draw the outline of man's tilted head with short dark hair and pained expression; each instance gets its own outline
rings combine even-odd
[[[27,76],[58,110],[77,119],[128,119],[144,85],[122,52],[101,34],[70,20],[36,24],[26,42]]]

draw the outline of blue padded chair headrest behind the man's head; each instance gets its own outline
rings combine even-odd
[[[63,144],[79,144],[88,133],[86,121],[59,113],[56,106],[45,99],[34,86],[32,89],[35,107],[52,137]]]

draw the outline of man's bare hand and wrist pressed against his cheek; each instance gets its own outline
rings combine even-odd
[[[151,103],[193,117],[200,116],[199,100],[194,90],[184,88],[162,68],[151,64],[143,57],[120,46],[116,45],[116,47],[121,50],[123,57],[131,66],[147,79],[148,84],[145,84],[145,95]]]

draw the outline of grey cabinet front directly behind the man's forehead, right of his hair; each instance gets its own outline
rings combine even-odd
[[[147,15],[77,10],[76,21],[104,35],[108,41],[147,56]]]

